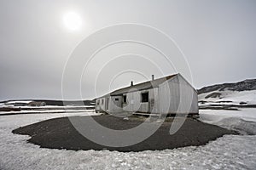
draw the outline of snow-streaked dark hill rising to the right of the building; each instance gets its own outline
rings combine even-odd
[[[256,107],[256,79],[207,86],[198,90],[201,108],[205,105]]]

